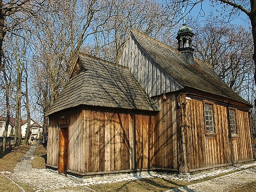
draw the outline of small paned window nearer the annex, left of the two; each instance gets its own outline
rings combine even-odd
[[[204,123],[205,123],[205,134],[212,136],[216,135],[214,127],[214,104],[204,103]]]

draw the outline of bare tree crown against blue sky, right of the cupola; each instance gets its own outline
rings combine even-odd
[[[194,33],[193,46],[196,57],[211,64],[236,93],[242,95],[247,92],[248,86],[252,86],[254,76],[251,32],[242,26],[230,25],[214,17],[197,22]],[[247,96],[244,98],[248,99]],[[252,103],[252,100],[248,101]]]

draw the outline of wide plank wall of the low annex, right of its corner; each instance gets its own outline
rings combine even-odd
[[[83,114],[86,123],[82,172],[149,167],[150,159],[154,159],[149,150],[152,148],[149,134],[154,125],[152,116],[88,110]]]

